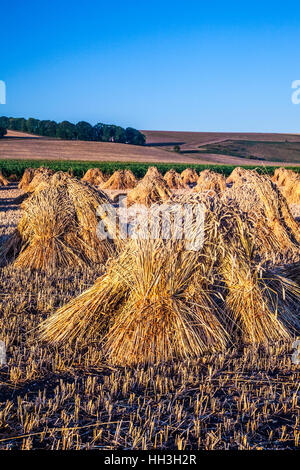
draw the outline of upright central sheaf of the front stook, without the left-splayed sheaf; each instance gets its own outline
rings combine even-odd
[[[204,284],[198,282],[196,292],[189,292],[197,257],[174,243],[147,241],[136,250],[126,276],[128,299],[104,338],[111,363],[188,359],[225,348],[228,337]]]

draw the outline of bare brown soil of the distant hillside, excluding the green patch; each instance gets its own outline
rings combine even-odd
[[[0,140],[1,159],[33,160],[83,160],[83,161],[120,161],[149,163],[219,163],[230,165],[278,165],[278,162],[232,157],[219,154],[193,153],[199,145],[220,142],[228,138],[253,140],[284,141],[283,134],[226,134],[226,133],[170,133],[143,131],[148,145],[135,146],[107,142],[63,141],[53,138],[37,137],[15,131],[8,131]],[[174,134],[174,135],[173,135]],[[187,137],[186,137],[187,136]],[[299,141],[300,136],[291,135],[289,139]],[[183,153],[174,152],[173,146],[180,144]],[[199,150],[199,149],[198,149]],[[184,153],[187,152],[187,153]],[[188,153],[190,152],[190,153]],[[293,164],[295,165],[295,164]]]

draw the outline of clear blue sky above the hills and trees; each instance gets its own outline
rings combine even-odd
[[[300,132],[299,2],[1,4],[0,115]]]

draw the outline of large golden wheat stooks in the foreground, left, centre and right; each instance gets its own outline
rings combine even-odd
[[[299,223],[268,176],[236,169],[223,191],[169,195],[170,209],[175,202],[205,207],[199,251],[175,236],[100,240],[96,210],[109,207],[109,197],[68,174],[48,176],[23,201],[18,228],[1,247],[2,264],[52,270],[104,263],[105,273],[41,324],[42,340],[76,347],[97,341],[105,360],[134,365],[264,346],[300,331]],[[145,178],[139,194],[160,177]],[[114,230],[107,212],[105,224]]]

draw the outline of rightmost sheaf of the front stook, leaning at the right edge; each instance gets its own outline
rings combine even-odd
[[[300,331],[300,289],[290,279],[255,263],[254,240],[237,220],[238,235],[227,246],[220,271],[227,287],[226,326],[239,341],[255,345],[291,339]]]

